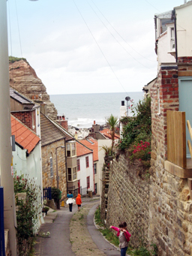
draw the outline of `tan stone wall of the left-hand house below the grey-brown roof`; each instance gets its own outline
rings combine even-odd
[[[56,180],[56,157],[55,148],[64,145],[64,140],[59,140],[47,146],[42,146],[42,173],[43,173],[43,188],[55,187],[57,188]],[[52,167],[53,177],[50,176],[50,155],[52,153]],[[65,149],[57,149],[58,161],[58,176],[59,176],[59,189],[62,191],[62,199],[67,197],[67,180],[66,180],[66,167],[65,167]]]

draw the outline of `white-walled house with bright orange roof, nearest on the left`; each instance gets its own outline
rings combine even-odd
[[[31,131],[26,125],[23,125],[19,119],[10,116],[11,134],[15,136],[15,149],[13,155],[13,168],[17,175],[23,175],[28,182],[34,182],[37,188],[37,206],[39,206],[37,228],[43,223],[41,214],[42,203],[42,176],[40,159],[40,138],[34,131]]]

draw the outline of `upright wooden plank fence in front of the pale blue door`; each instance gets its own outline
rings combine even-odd
[[[185,112],[167,110],[167,160],[187,167]]]

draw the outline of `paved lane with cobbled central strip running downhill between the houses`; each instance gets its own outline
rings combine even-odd
[[[50,238],[37,236],[35,255],[119,256],[120,251],[110,245],[95,227],[94,214],[99,202],[87,199],[80,212],[77,212],[77,205],[74,205],[73,212],[69,212],[68,207],[62,207],[48,213],[40,233],[49,231]],[[52,222],[52,219],[55,220]]]

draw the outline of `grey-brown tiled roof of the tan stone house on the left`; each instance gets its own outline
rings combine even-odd
[[[43,113],[40,113],[40,137],[42,146],[62,139],[74,140],[73,135],[69,134],[65,128]]]

